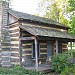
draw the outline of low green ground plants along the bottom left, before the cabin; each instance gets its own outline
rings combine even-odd
[[[26,70],[20,66],[14,66],[13,68],[0,67],[0,75],[44,75],[43,73]]]

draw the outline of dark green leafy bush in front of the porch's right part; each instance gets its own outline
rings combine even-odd
[[[69,65],[69,54],[57,54],[52,58],[52,70],[60,73],[66,66]]]

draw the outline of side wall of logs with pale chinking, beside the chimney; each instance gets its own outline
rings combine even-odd
[[[20,29],[19,23],[10,25],[11,64],[20,64]]]

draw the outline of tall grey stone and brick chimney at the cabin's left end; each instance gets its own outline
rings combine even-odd
[[[10,36],[9,36],[9,15],[7,10],[9,3],[2,1],[0,3],[0,65],[2,67],[11,66]]]

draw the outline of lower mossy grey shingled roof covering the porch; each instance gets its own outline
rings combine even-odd
[[[47,36],[47,37],[65,38],[65,39],[75,40],[75,36],[72,34],[49,29],[49,28],[41,28],[41,27],[25,26],[25,25],[20,26],[20,28],[22,28],[23,30],[35,36]]]

